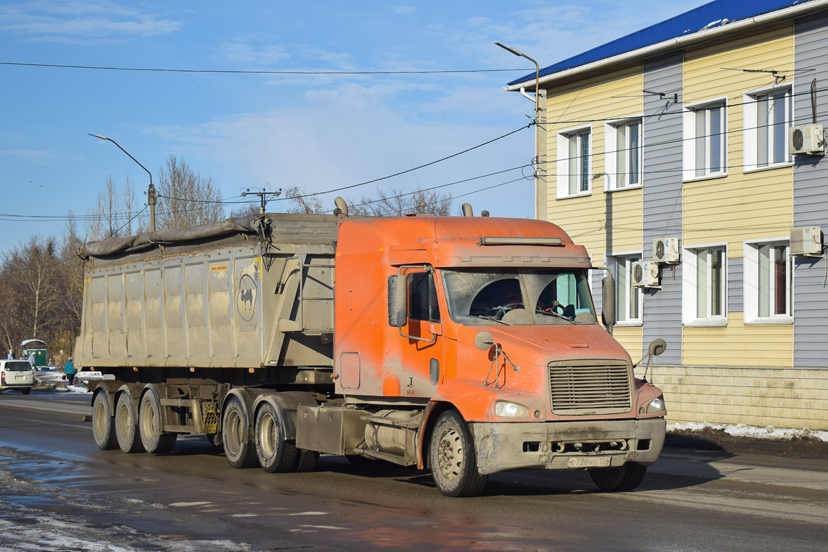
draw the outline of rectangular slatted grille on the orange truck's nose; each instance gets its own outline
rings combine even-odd
[[[549,383],[554,414],[618,414],[631,408],[626,362],[552,362]]]

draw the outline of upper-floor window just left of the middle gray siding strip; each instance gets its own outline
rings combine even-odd
[[[641,119],[612,122],[606,125],[604,139],[608,149],[606,158],[606,189],[623,190],[642,184],[642,124]]]

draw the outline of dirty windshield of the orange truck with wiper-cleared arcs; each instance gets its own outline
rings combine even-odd
[[[459,324],[596,322],[584,271],[443,270],[440,274],[449,314]]]

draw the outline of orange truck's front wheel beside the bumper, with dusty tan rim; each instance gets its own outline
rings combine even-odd
[[[456,410],[444,412],[431,433],[431,474],[446,497],[477,497],[489,476],[478,471],[469,426]]]

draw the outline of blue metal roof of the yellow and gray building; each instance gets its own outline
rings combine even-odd
[[[667,21],[648,26],[641,31],[635,31],[630,35],[607,42],[603,46],[585,51],[583,54],[575,55],[568,60],[559,61],[555,65],[545,67],[541,70],[541,76],[806,2],[811,2],[811,0],[798,0],[798,2],[794,0],[715,0],[704,6],[696,7],[690,12],[671,17]],[[534,79],[535,74],[530,73],[520,79],[513,80],[508,85],[511,86],[512,84]]]

